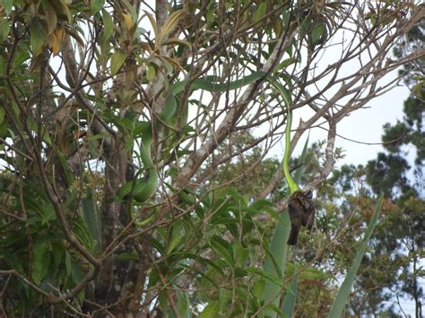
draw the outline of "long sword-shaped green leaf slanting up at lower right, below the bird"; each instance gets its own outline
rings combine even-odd
[[[332,305],[331,311],[329,312],[330,318],[337,318],[343,316],[343,309],[348,300],[348,297],[350,296],[351,285],[354,279],[356,278],[357,271],[359,271],[360,263],[369,245],[369,240],[372,236],[372,232],[377,226],[377,218],[379,216],[379,211],[381,211],[383,198],[384,194],[382,193],[379,196],[379,199],[377,200],[375,211],[373,212],[372,219],[370,219],[369,226],[366,229],[366,233],[363,237],[363,242],[361,242],[360,249],[359,251],[357,251],[356,257],[352,262],[350,271],[348,271],[347,275],[345,276],[345,279],[343,280],[343,285],[341,285],[341,288],[338,291],[338,295],[335,298],[334,305]]]

